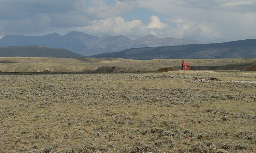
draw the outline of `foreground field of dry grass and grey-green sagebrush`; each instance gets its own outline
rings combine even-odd
[[[0,152],[255,153],[256,83],[195,78],[256,72],[0,74]]]

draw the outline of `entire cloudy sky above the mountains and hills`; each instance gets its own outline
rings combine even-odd
[[[0,38],[70,31],[205,43],[256,39],[256,0],[0,0]]]

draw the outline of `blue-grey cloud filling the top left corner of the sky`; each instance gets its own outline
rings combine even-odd
[[[0,20],[20,20],[38,14],[81,11],[85,0],[0,0]]]

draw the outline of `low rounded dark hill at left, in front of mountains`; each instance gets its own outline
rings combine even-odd
[[[0,47],[0,57],[86,57],[65,49],[45,46]]]

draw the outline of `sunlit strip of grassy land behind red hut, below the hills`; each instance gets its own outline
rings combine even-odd
[[[256,58],[245,59],[184,59],[196,70],[241,70],[256,63]],[[0,58],[2,72],[152,72],[161,68],[182,69],[181,59],[130,60],[115,58]],[[100,69],[99,69],[100,68]],[[101,71],[99,71],[101,70]]]

